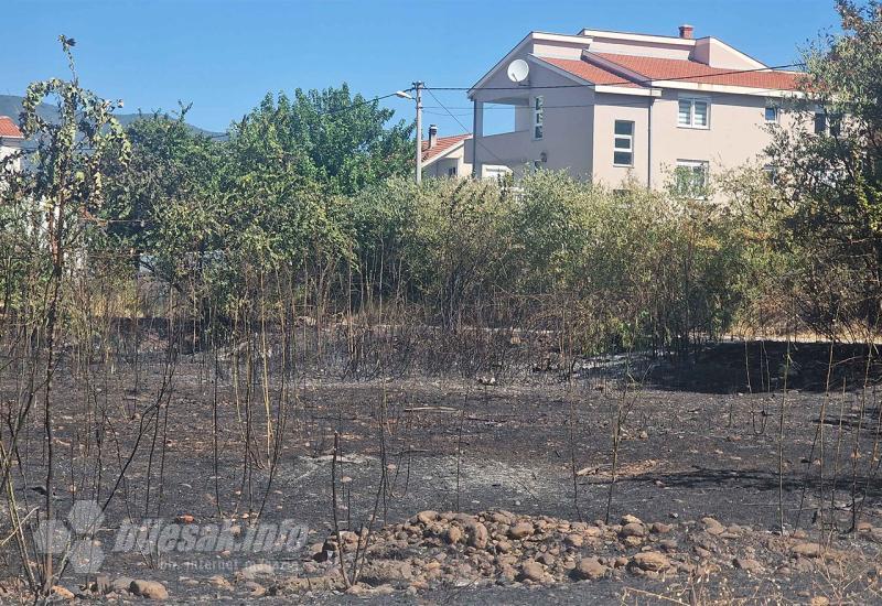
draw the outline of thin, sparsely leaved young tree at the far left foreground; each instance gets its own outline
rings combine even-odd
[[[35,236],[29,250],[33,272],[29,277],[29,304],[40,309],[33,336],[42,336],[43,428],[45,431],[46,478],[45,519],[54,517],[55,458],[54,458],[54,376],[58,361],[56,353],[63,324],[66,283],[72,259],[85,253],[86,234],[100,228],[98,217],[105,201],[107,163],[125,164],[129,159],[129,142],[112,112],[119,104],[107,101],[79,85],[72,48],[73,39],[60,36],[62,50],[71,67],[71,79],[51,78],[28,87],[20,117],[25,138],[35,142],[26,170],[0,184],[0,195],[8,207],[24,208],[18,216],[37,218],[25,230]],[[50,122],[37,113],[45,99],[53,99],[58,108],[58,120]],[[12,430],[12,444],[4,451],[4,478],[15,451],[15,441],[35,400],[31,389],[20,409]],[[51,551],[51,550],[50,550]],[[22,553],[25,550],[22,548]],[[39,585],[44,595],[51,592],[57,576],[53,570],[53,554],[46,553],[41,565]],[[25,566],[29,569],[29,566]],[[33,582],[29,569],[29,578]]]

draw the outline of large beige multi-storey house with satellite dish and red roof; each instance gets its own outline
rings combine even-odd
[[[714,37],[582,30],[533,32],[469,91],[474,138],[465,162],[516,173],[567,170],[616,187],[660,187],[675,167],[697,184],[709,172],[762,159],[768,126],[799,74],[772,69]],[[514,111],[514,130],[485,136],[485,106]]]

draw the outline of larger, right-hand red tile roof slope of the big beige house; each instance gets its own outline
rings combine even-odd
[[[768,88],[775,90],[796,90],[802,74],[797,72],[738,72],[710,67],[697,61],[641,57],[635,55],[616,55],[611,53],[591,53],[611,61],[622,67],[642,74],[647,79],[678,79],[697,84],[721,84],[727,86],[744,86],[749,88]]]

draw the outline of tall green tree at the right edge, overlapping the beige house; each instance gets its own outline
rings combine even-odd
[[[882,4],[837,2],[842,32],[805,52],[807,98],[777,129],[781,250],[805,259],[794,278],[804,317],[874,327],[882,304]]]

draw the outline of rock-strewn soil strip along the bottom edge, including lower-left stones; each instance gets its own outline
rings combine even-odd
[[[375,532],[341,531],[314,542],[295,575],[257,563],[178,582],[198,602],[411,600],[451,592],[481,600],[487,588],[520,591],[527,599],[531,589],[574,585],[599,596],[617,586],[623,598],[639,603],[703,596],[708,603],[868,604],[882,599],[882,528],[862,523],[853,537],[831,543],[826,535],[782,535],[711,517],[648,522],[625,515],[607,524],[502,509],[426,510]],[[128,603],[170,596],[155,581],[100,575],[74,589],[56,586],[55,597]]]

